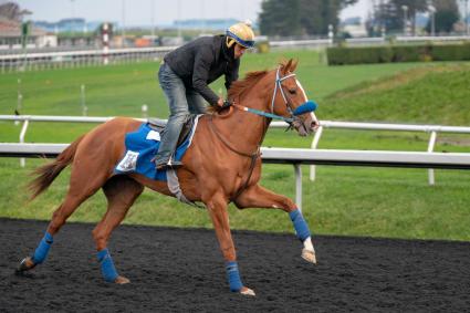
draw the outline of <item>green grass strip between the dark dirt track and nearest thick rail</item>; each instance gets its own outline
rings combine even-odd
[[[33,202],[28,202],[28,174],[40,160],[20,168],[17,159],[0,159],[2,217],[50,219],[67,189],[69,170]],[[314,182],[304,166],[304,216],[314,233],[395,238],[470,240],[470,173],[437,170],[436,186],[428,186],[425,169],[317,167]],[[294,197],[293,169],[265,165],[262,184]],[[71,221],[96,222],[105,211],[102,191],[84,202]],[[130,209],[125,223],[203,227],[211,222],[205,210],[146,190]],[[288,216],[272,209],[237,210],[230,207],[234,229],[292,232]]]

